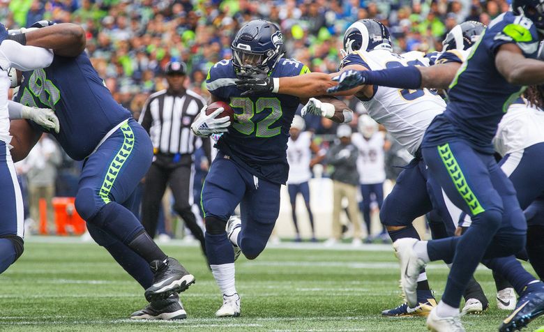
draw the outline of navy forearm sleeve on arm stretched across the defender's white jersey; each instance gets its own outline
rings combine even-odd
[[[398,89],[421,89],[421,72],[416,66],[372,70],[368,72],[368,80],[365,84]]]

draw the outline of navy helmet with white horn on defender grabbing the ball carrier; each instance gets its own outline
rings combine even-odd
[[[358,20],[344,33],[342,56],[355,51],[388,50],[393,52],[389,30],[377,20]]]

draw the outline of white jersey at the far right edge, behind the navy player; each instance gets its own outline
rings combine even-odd
[[[493,139],[501,156],[544,142],[544,112],[523,104],[512,104],[504,114]]]

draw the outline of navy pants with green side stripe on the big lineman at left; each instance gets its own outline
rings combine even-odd
[[[151,165],[153,146],[144,128],[128,120],[86,158],[75,208],[93,239],[144,287],[153,276],[149,264],[127,246],[144,227],[133,195]]]

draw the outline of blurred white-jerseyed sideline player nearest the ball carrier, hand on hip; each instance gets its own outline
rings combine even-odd
[[[296,196],[299,193],[304,198],[310,227],[312,228],[312,242],[315,239],[314,215],[310,208],[310,186],[308,181],[312,178],[311,168],[325,158],[325,153],[312,141],[312,133],[304,131],[306,124],[302,116],[295,115],[289,129],[287,141],[287,163],[289,163],[289,177],[287,179],[287,191],[291,202],[291,212],[296,231],[295,242],[301,241],[299,224],[296,218]],[[315,158],[312,159],[312,152]]]

